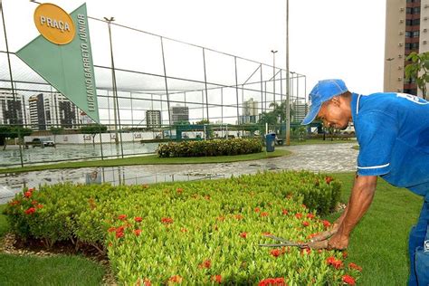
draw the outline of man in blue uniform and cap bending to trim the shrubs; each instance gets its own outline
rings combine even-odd
[[[358,221],[371,205],[381,176],[394,186],[424,196],[418,223],[409,239],[410,285],[429,285],[429,102],[396,92],[361,95],[341,80],[319,81],[310,92],[303,125],[319,118],[325,126],[355,126],[358,172],[344,213],[333,228],[310,243],[313,248],[345,249]],[[426,252],[424,252],[426,250]]]

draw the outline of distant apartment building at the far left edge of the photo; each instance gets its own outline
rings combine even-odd
[[[24,96],[0,92],[0,124],[25,126]]]

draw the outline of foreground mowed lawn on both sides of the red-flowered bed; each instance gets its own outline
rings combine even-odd
[[[348,201],[353,173],[331,174],[343,182],[342,200]],[[405,285],[408,278],[407,242],[423,199],[406,189],[378,180],[377,192],[367,215],[352,233],[348,262],[363,267],[359,285]],[[0,205],[0,211],[4,205]],[[336,215],[326,217],[335,220]],[[5,234],[5,215],[0,215],[0,236]],[[0,285],[96,285],[103,270],[79,256],[52,258],[17,257],[0,254]],[[25,273],[25,275],[22,275]]]

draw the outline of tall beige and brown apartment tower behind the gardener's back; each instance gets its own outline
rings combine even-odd
[[[429,0],[386,1],[384,91],[420,95],[414,80],[405,81],[405,59],[428,51]]]

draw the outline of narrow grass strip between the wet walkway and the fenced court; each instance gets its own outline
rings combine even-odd
[[[116,167],[130,165],[172,165],[172,164],[207,164],[207,163],[226,163],[238,161],[259,160],[270,157],[281,157],[290,155],[287,150],[277,149],[274,152],[265,151],[255,154],[237,155],[237,156],[217,156],[217,157],[157,157],[157,155],[126,157],[108,160],[75,161],[58,164],[46,164],[28,167],[8,167],[0,168],[0,174],[21,173],[30,171],[40,171],[48,169],[76,168],[76,167]]]

